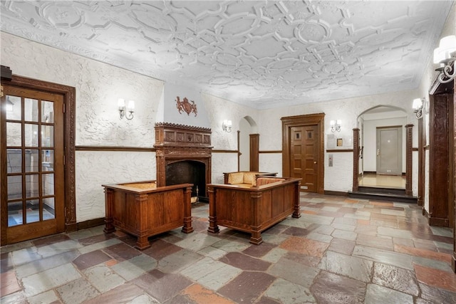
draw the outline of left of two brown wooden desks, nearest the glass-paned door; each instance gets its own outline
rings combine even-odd
[[[182,227],[186,234],[192,228],[193,184],[155,187],[155,181],[106,184],[105,233],[121,229],[138,236],[136,247],[150,247],[147,240],[165,231]]]

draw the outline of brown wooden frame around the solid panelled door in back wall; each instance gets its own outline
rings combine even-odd
[[[292,127],[305,127],[307,125],[316,125],[318,130],[318,165],[317,165],[317,193],[324,194],[324,122],[325,113],[296,115],[289,117],[281,117],[282,121],[282,175],[284,177],[291,176],[290,167],[290,147],[291,147],[291,128]]]

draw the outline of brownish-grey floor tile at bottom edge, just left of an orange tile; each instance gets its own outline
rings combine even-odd
[[[84,304],[102,304],[102,303],[158,303],[157,300],[152,298],[152,301],[148,299],[149,295],[146,298],[139,298],[147,293],[139,288],[137,285],[125,283],[116,288],[109,290],[107,293],[92,298],[91,300],[86,301]],[[138,300],[141,300],[138,302]],[[135,302],[136,301],[136,302]]]

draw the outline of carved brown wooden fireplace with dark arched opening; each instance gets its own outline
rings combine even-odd
[[[206,127],[155,123],[157,187],[192,183],[192,196],[208,201],[211,183],[211,130]]]

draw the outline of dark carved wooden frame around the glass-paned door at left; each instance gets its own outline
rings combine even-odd
[[[2,71],[4,68],[2,67]],[[63,169],[64,184],[65,184],[65,231],[76,231],[76,174],[75,174],[75,114],[76,114],[76,88],[58,83],[49,83],[43,80],[25,78],[18,75],[12,75],[11,79],[1,78],[2,85],[11,85],[15,87],[28,88],[31,90],[41,90],[49,93],[63,95],[63,105],[65,112],[63,113],[63,155],[65,157],[65,166]],[[6,162],[3,154],[1,154],[1,162]],[[1,184],[1,200],[6,200],[6,184]],[[6,227],[3,223],[7,223],[8,211],[1,210],[1,245],[6,242]]]

